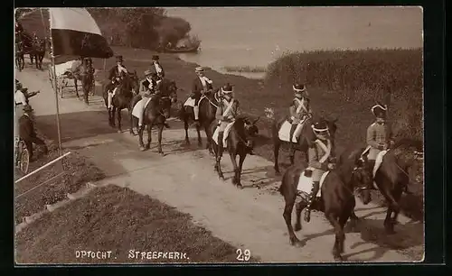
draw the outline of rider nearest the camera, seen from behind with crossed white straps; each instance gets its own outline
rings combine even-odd
[[[325,120],[321,119],[312,124],[312,129],[315,134],[315,141],[312,141],[307,152],[308,155],[308,165],[314,170],[305,170],[306,177],[312,177],[313,186],[311,193],[309,194],[309,199],[307,202],[307,207],[305,211],[305,221],[309,222],[311,220],[311,206],[314,199],[320,189],[320,179],[326,170],[333,170],[334,164],[332,161],[332,144],[331,135],[328,129],[328,124]]]

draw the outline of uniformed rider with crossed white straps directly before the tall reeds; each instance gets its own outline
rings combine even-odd
[[[309,106],[309,99],[305,85],[296,83],[292,88],[295,92],[295,98],[292,101],[292,105],[289,107],[290,121],[292,123],[289,137],[290,141],[294,142],[294,133],[298,134],[301,132],[301,128],[305,124],[306,119],[312,117],[312,110]],[[294,144],[290,143],[290,147],[293,148]]]

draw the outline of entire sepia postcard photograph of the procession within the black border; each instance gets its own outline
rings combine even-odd
[[[16,265],[424,261],[422,7],[14,19]]]

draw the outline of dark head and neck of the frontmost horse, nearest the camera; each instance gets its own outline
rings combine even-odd
[[[363,151],[364,148],[344,151],[339,157],[337,168],[345,185],[350,183],[350,187],[365,205],[372,200],[373,178],[368,161],[362,157]]]

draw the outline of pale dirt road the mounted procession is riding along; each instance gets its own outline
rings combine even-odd
[[[46,71],[25,69],[17,78],[30,90],[42,93],[31,104],[46,133],[55,131],[54,94]],[[78,150],[104,170],[108,183],[127,186],[190,213],[197,224],[222,240],[266,262],[334,262],[331,249],[334,231],[322,213],[313,212],[297,236],[303,247],[288,243],[282,216],[284,202],[275,191],[278,179],[272,177],[271,163],[248,156],[244,163],[244,189],[231,185],[231,161],[221,161],[225,181],[213,171],[213,158],[205,150],[182,146],[184,130],[177,120],[164,132],[165,156],[157,154],[156,135],[147,152],[139,152],[137,137],[116,133],[108,126],[107,113],[99,97],[85,106],[73,97],[60,99],[63,146]],[[123,116],[126,117],[126,116]],[[127,117],[126,117],[127,118]],[[127,129],[127,119],[123,120]],[[189,133],[192,138],[195,132]],[[385,209],[363,206],[357,200],[356,214],[363,217],[359,231],[346,233],[344,257],[352,262],[412,262],[423,255],[423,225],[400,216],[396,235],[385,235]]]

